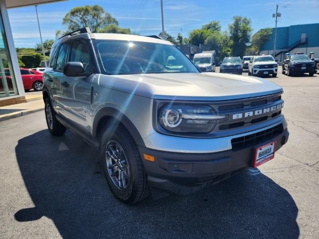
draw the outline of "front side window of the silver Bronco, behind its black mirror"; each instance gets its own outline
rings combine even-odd
[[[70,61],[79,61],[83,64],[86,72],[90,69],[90,54],[87,44],[82,41],[73,41],[71,48]]]

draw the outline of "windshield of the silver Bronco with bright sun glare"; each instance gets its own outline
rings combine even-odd
[[[94,40],[103,74],[198,73],[175,46],[140,41]]]

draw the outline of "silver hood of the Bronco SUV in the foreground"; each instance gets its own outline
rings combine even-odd
[[[280,86],[265,79],[208,72],[97,77],[102,87],[153,99],[220,101],[283,91]]]

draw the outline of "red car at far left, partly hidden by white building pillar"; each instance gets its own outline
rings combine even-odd
[[[13,90],[12,80],[8,68],[4,69],[6,82],[9,88],[9,91]],[[39,71],[34,71],[31,69],[20,68],[20,73],[22,77],[23,87],[25,91],[33,89],[34,91],[42,91],[43,87],[43,73]],[[0,74],[0,92],[3,91],[1,74]]]

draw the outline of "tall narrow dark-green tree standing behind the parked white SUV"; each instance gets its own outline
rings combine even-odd
[[[252,27],[247,17],[234,16],[233,23],[228,25],[230,39],[233,41],[232,55],[243,57],[250,41]]]

